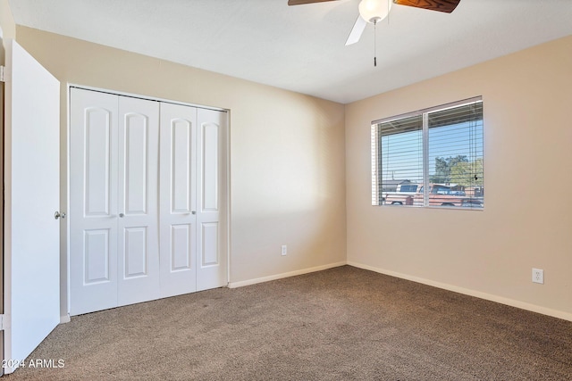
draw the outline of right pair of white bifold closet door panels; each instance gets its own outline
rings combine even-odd
[[[225,126],[226,112],[161,104],[163,296],[227,283]]]

